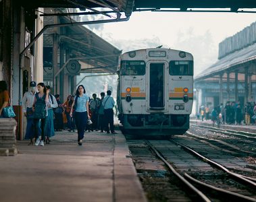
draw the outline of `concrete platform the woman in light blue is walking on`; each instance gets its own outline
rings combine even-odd
[[[147,201],[124,135],[76,139],[62,131],[44,147],[18,141],[18,155],[0,156],[0,201]]]

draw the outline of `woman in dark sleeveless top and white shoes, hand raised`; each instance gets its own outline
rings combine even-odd
[[[49,90],[46,89],[45,83],[37,85],[38,93],[35,94],[33,111],[34,111],[34,126],[36,133],[36,143],[34,145],[44,146],[45,128],[47,124],[48,105],[49,105]],[[41,141],[39,139],[39,121],[41,120]]]

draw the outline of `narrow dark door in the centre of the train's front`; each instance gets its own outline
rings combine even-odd
[[[148,103],[150,110],[163,110],[165,108],[165,67],[165,63],[149,63]]]

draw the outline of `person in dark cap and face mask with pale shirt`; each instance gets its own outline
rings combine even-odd
[[[34,138],[34,112],[32,105],[34,102],[34,95],[36,94],[36,82],[30,82],[30,89],[26,92],[22,98],[22,111],[26,117],[26,135],[25,139],[30,139],[28,145],[33,145]]]

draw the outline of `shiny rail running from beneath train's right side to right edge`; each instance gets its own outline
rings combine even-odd
[[[201,160],[203,160],[204,162],[207,162],[208,164],[211,164],[211,165],[215,166],[216,168],[219,168],[220,170],[223,170],[224,172],[226,172],[230,176],[236,178],[240,182],[242,182],[244,184],[249,184],[254,189],[256,188],[256,182],[253,182],[252,180],[249,180],[248,178],[244,177],[242,174],[236,174],[236,173],[228,170],[228,168],[222,166],[221,164],[219,164],[217,162],[214,162],[213,160],[210,160],[209,158],[206,158],[205,156],[202,156],[201,154],[197,153],[197,151],[195,151],[193,149],[190,149],[190,147],[187,147],[186,145],[183,145],[181,143],[177,143],[174,140],[170,140],[170,141],[173,141],[177,145],[180,145],[180,147],[182,147],[183,149],[186,149],[186,150],[190,151],[190,153],[192,153],[194,156],[197,156],[198,158],[201,158]]]

